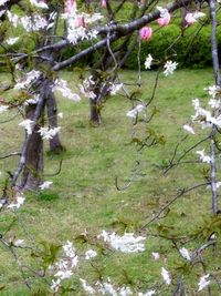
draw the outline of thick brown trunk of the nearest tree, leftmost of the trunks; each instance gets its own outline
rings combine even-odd
[[[43,125],[43,110],[42,108],[39,123]],[[27,108],[27,119],[32,120],[35,111],[35,105]],[[28,143],[25,164],[22,173],[21,188],[36,190],[42,183],[43,174],[43,140],[40,135],[39,125],[36,124],[32,131],[31,140]]]

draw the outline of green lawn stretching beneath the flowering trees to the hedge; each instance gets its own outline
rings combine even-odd
[[[136,73],[129,71],[120,75],[128,83],[134,82],[136,78]],[[77,84],[76,74],[64,72],[62,76],[71,84]],[[141,73],[144,100],[150,96],[155,76],[155,72]],[[170,212],[164,220],[144,231],[141,234],[147,236],[144,253],[123,255],[118,252],[105,251],[106,255],[103,255],[96,236],[102,229],[117,233],[138,232],[165,203],[176,195],[178,188],[201,182],[202,165],[177,167],[166,176],[162,176],[159,166],[164,160],[171,157],[176,143],[185,135],[181,126],[193,114],[191,100],[197,96],[206,101],[207,94],[203,88],[208,85],[213,85],[210,69],[180,70],[176,75],[160,76],[154,102],[158,113],[148,129],[151,127],[156,133],[164,135],[166,144],[145,149],[139,154],[131,144],[133,126],[126,116],[131,105],[127,100],[120,95],[110,98],[103,109],[103,123],[95,129],[88,123],[86,100],[74,103],[57,98],[59,111],[64,114],[64,119],[60,120],[61,140],[66,150],[62,155],[50,155],[46,153],[49,147],[45,144],[45,180],[53,181],[53,187],[41,194],[27,194],[25,204],[18,211],[18,221],[14,222],[7,237],[24,238],[27,244],[32,244],[34,241],[38,242],[39,247],[42,247],[42,242],[61,246],[70,239],[82,253],[85,249],[95,248],[99,253],[94,259],[96,269],[83,263],[77,272],[88,283],[96,282],[97,271],[102,271],[104,278],[110,277],[116,285],[128,285],[129,282],[131,286],[139,286],[140,290],[145,292],[157,280],[161,280],[161,266],[173,271],[173,278],[177,278],[178,271],[185,268],[186,262],[180,258],[171,239],[167,237],[173,236],[176,239],[176,236],[196,234],[201,227],[203,232],[196,235],[196,239],[190,241],[187,247],[194,249],[206,241],[213,229],[213,225],[210,225],[212,217],[209,191],[198,190],[182,196],[170,206]],[[1,114],[2,119],[4,116],[9,115]],[[1,124],[1,155],[20,150],[23,139],[18,127],[20,121],[20,118],[15,118],[12,122]],[[147,131],[145,124],[139,122],[134,129],[139,139],[145,136]],[[189,136],[181,145],[181,150],[183,151],[194,141],[193,136]],[[120,187],[128,184],[137,157],[140,160],[140,166],[136,178],[127,190],[117,191],[115,177],[118,177]],[[61,159],[63,160],[61,173],[53,177],[46,176],[57,171]],[[4,172],[13,172],[17,161],[18,159],[13,157],[0,162],[1,183],[6,176]],[[0,233],[2,233],[9,223],[12,223],[12,216],[1,214],[0,220]],[[218,223],[217,228],[219,227]],[[88,236],[88,241],[84,244],[80,239],[83,232]],[[151,252],[159,252],[160,261],[154,261]],[[218,252],[215,255],[218,256]],[[31,264],[35,269],[41,265],[41,258],[30,257],[22,252],[20,256],[25,265]],[[218,268],[218,261],[213,262],[212,256],[210,249],[206,252],[206,257],[210,262],[208,268]],[[1,295],[50,294],[44,280],[39,278],[31,279],[34,292],[29,292],[24,287],[13,257],[3,246],[1,246],[0,262],[0,287],[4,286]],[[198,295],[197,282],[202,271],[194,267],[191,275],[188,274],[189,271],[186,273],[188,295]],[[219,271],[218,275],[220,276]],[[70,283],[74,292],[67,295],[84,295],[77,278],[77,275],[74,276]],[[170,295],[171,288],[165,287],[161,293],[160,295]],[[218,293],[215,288],[214,293]]]

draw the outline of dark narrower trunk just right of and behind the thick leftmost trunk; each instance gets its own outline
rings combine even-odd
[[[56,100],[54,94],[50,91],[48,99],[46,99],[46,110],[48,110],[48,119],[50,127],[57,127],[57,108],[56,108]],[[59,134],[50,139],[50,151],[60,154],[64,147],[61,144]]]

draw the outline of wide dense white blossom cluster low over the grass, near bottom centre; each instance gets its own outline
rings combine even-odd
[[[123,253],[137,253],[145,251],[143,241],[145,241],[146,237],[135,237],[134,233],[125,233],[123,236],[119,236],[115,233],[108,234],[103,231],[98,237],[103,237],[104,242],[109,243],[114,249]]]

